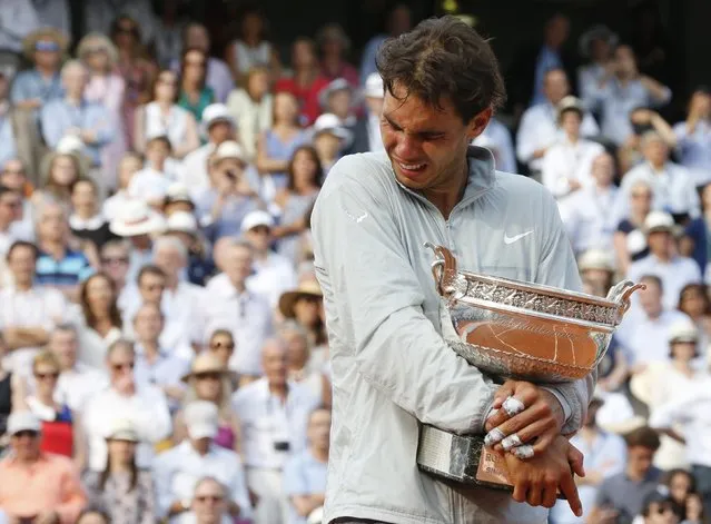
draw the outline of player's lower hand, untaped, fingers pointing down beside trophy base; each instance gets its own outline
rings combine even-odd
[[[583,505],[573,473],[585,476],[583,454],[567,438],[559,435],[546,451],[527,461],[511,453],[505,453],[504,459],[514,484],[514,501],[550,508],[555,504],[560,490],[573,513],[582,516]]]

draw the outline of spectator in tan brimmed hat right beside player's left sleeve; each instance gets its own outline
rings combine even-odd
[[[318,281],[303,278],[296,289],[279,298],[284,318],[294,318],[308,333],[308,342],[316,348],[326,343],[326,333],[319,310],[324,300]]]

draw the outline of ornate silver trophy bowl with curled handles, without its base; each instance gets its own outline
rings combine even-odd
[[[432,271],[451,317],[443,318],[445,339],[496,377],[551,384],[586,376],[604,357],[630,296],[643,287],[624,280],[599,298],[458,271],[447,248],[426,246],[435,253]]]

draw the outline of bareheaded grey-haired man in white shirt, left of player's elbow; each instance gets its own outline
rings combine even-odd
[[[261,346],[274,328],[268,299],[247,288],[253,253],[251,246],[240,240],[228,239],[220,245],[216,261],[223,273],[206,286],[200,325],[204,342],[215,329],[229,329],[237,345],[229,367],[241,375],[259,377]]]

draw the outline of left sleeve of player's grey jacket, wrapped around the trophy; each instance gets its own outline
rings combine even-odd
[[[497,386],[458,357],[425,316],[422,284],[397,227],[406,217],[395,217],[376,197],[378,188],[356,178],[365,169],[357,156],[340,160],[312,218],[326,307],[350,332],[330,335],[353,352],[371,386],[418,421],[480,433]]]

